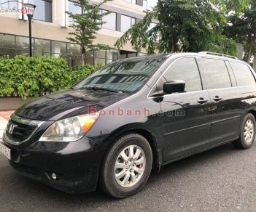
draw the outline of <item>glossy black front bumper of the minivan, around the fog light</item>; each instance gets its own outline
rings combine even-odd
[[[105,150],[86,136],[77,142],[33,142],[21,149],[4,144],[11,148],[10,165],[31,179],[72,194],[97,187]]]

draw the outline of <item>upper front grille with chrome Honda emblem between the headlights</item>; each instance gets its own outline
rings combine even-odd
[[[29,136],[31,136],[36,127],[37,126],[29,126],[9,120],[6,134],[9,139],[12,139],[14,142],[23,142],[24,140],[28,139]],[[10,128],[12,128],[12,130],[10,130]]]

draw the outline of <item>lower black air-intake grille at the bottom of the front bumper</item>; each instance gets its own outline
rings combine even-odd
[[[36,180],[42,180],[42,176],[40,174],[40,171],[36,168],[31,168],[28,166],[23,166],[19,163],[14,163],[12,161],[9,161],[10,165],[15,168],[17,171],[19,171],[21,174],[28,176],[29,178],[36,179]]]

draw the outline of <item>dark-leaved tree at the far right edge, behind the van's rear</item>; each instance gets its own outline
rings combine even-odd
[[[250,62],[256,53],[256,1],[252,0],[249,7],[241,15],[233,15],[226,25],[226,34],[244,44],[246,60]]]

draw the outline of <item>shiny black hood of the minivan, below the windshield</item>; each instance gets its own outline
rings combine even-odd
[[[37,121],[57,121],[89,113],[96,105],[96,111],[125,99],[131,94],[111,91],[71,89],[49,94],[18,108],[15,114]],[[89,107],[91,109],[89,109]]]

